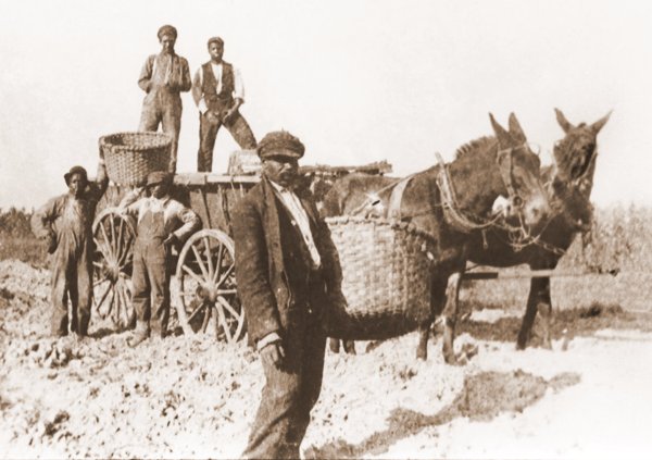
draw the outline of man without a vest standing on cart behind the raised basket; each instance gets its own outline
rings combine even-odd
[[[147,58],[140,71],[138,86],[147,96],[142,101],[139,130],[156,130],[163,125],[163,133],[172,136],[170,172],[176,171],[179,132],[181,129],[181,96],[191,87],[188,61],[174,52],[177,32],[171,25],[159,29],[161,52]]]

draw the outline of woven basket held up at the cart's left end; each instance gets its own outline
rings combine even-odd
[[[117,133],[100,137],[106,174],[115,184],[139,186],[154,171],[167,171],[172,137],[163,133]]]

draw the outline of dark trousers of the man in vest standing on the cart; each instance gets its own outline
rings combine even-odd
[[[220,130],[220,127],[222,127],[222,124],[223,122],[221,121],[211,123],[205,114],[199,114],[199,152],[197,153],[198,172],[210,173],[213,171],[213,149],[215,148],[215,139],[217,139],[217,132]],[[226,126],[241,149],[255,148],[255,137],[253,136],[253,132],[240,112],[236,112],[230,123],[224,123],[224,126]]]

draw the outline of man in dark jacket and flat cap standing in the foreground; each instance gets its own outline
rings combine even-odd
[[[304,147],[286,132],[258,146],[263,176],[233,214],[238,294],[265,371],[246,458],[299,458],[324,371],[330,306],[341,271],[330,232],[305,191],[293,189]]]

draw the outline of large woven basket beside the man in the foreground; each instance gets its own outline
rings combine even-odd
[[[384,339],[430,318],[428,237],[405,223],[328,217],[347,306],[329,314],[328,335]]]

